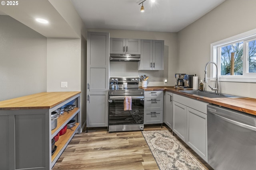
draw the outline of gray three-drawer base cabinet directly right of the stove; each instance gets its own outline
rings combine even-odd
[[[163,123],[163,91],[144,92],[144,124]]]

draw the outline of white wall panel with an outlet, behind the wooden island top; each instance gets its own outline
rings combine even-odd
[[[81,91],[81,39],[48,38],[47,92],[70,91]]]

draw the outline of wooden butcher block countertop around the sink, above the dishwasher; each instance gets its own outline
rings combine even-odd
[[[182,93],[182,89],[174,88],[171,86],[151,86],[151,87],[140,87],[144,89],[145,91],[158,91],[158,90],[164,90],[168,92],[173,92],[175,94],[179,94],[182,96],[186,96],[189,98],[193,98],[196,100],[200,100],[202,102],[207,102],[210,104],[216,104],[218,106],[227,107],[230,109],[234,109],[237,111],[242,111],[245,113],[249,113],[252,115],[256,115],[256,99],[255,98],[207,98],[207,97],[201,97],[194,94],[187,94]],[[187,89],[184,89],[187,90]]]

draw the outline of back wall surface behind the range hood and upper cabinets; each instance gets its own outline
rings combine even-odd
[[[88,29],[88,31],[109,32],[111,38],[154,39],[164,40],[164,70],[138,71],[138,63],[110,62],[110,76],[138,76],[146,74],[148,86],[174,86],[177,59],[177,33],[154,31],[131,31],[119,29]]]

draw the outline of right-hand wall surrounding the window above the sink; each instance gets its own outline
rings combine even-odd
[[[255,29],[255,6],[255,0],[226,0],[178,32],[177,72],[197,74],[203,80],[210,44]],[[208,84],[204,86],[210,91]],[[256,83],[220,82],[220,90],[226,94],[256,98],[255,89]]]

